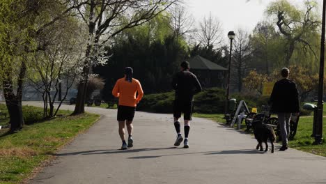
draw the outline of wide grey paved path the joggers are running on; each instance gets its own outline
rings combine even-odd
[[[185,149],[173,147],[170,114],[137,112],[134,148],[121,151],[116,111],[86,110],[103,116],[31,183],[326,183],[326,158],[291,148],[260,153],[250,135],[203,118],[194,118]]]

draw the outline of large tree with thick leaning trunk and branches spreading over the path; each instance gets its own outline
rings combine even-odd
[[[152,20],[178,1],[180,0],[89,0],[87,5],[77,8],[79,17],[88,26],[88,42],[73,114],[84,113],[88,75],[98,61],[104,61],[100,59],[104,56],[101,52],[103,46],[110,43],[118,33]]]

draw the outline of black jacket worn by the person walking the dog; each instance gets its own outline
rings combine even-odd
[[[281,79],[274,84],[270,101],[271,112],[292,113],[299,112],[299,95],[297,84],[289,79]]]

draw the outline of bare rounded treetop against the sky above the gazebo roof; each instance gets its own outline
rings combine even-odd
[[[212,13],[207,18],[204,17],[199,26],[197,36],[205,47],[214,47],[222,43],[222,23],[217,17],[212,17]]]

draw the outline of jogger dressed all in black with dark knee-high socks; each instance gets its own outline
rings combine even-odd
[[[199,83],[196,75],[189,72],[189,63],[183,61],[181,63],[181,71],[177,72],[173,76],[172,87],[176,90],[176,97],[173,104],[173,117],[174,117],[174,127],[177,132],[177,139],[174,146],[179,146],[183,141],[183,137],[180,133],[180,117],[183,113],[183,118],[185,121],[185,141],[183,142],[184,148],[189,148],[188,135],[190,130],[190,121],[192,120],[192,109],[194,94],[202,91],[201,84]]]

